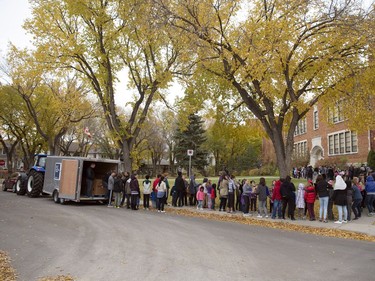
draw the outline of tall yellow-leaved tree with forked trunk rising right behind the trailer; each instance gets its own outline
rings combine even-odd
[[[91,85],[97,95],[111,135],[122,149],[125,170],[132,170],[132,150],[155,99],[164,99],[174,74],[183,70],[184,41],[172,37],[164,25],[148,15],[152,1],[36,0],[25,28],[43,60],[70,68]],[[124,71],[125,70],[125,71]],[[125,74],[124,74],[125,73]],[[120,117],[116,83],[131,100],[126,119]],[[126,93],[126,94],[125,94]],[[124,104],[122,104],[124,105]]]

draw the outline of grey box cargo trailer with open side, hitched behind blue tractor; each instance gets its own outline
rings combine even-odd
[[[86,170],[92,163],[95,163],[95,179],[92,197],[87,197]],[[107,189],[103,187],[102,179],[111,171],[118,173],[120,167],[119,160],[48,156],[43,193],[52,195],[55,203],[106,200]]]

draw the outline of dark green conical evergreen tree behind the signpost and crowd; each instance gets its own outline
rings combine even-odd
[[[175,134],[176,146],[174,148],[177,166],[189,170],[189,156],[187,150],[194,150],[194,155],[191,157],[192,169],[198,169],[202,173],[207,165],[208,152],[202,148],[202,144],[206,141],[203,129],[202,118],[196,114],[191,114],[188,117],[188,125],[185,129],[181,130],[178,126]]]

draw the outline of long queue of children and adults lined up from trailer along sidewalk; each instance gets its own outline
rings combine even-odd
[[[273,181],[268,187],[263,177],[259,183],[247,179],[239,182],[233,175],[222,173],[216,185],[208,178],[204,178],[201,184],[197,183],[194,175],[188,182],[179,172],[171,189],[167,177],[158,175],[151,182],[149,176],[146,176],[142,182],[141,192],[136,174],[129,176],[128,173],[112,173],[107,186],[110,198],[113,193],[116,208],[126,206],[138,210],[142,193],[143,207],[146,210],[149,210],[151,201],[158,212],[164,213],[169,196],[172,197],[173,207],[186,206],[189,201],[189,205],[198,210],[215,210],[218,197],[219,211],[241,211],[244,216],[257,215],[264,218],[270,215],[272,219],[285,219],[287,216],[291,220],[295,220],[296,213],[297,219],[303,220],[308,217],[315,221],[317,218],[314,207],[315,202],[319,200],[319,221],[346,223],[361,217],[364,204],[368,209],[368,215],[374,215],[374,176],[368,175],[366,180],[364,176],[350,179],[345,173],[337,173],[333,181],[327,179],[325,174],[318,174],[313,179],[308,178],[305,184],[299,183],[296,189],[289,176]],[[334,205],[337,206],[337,220],[334,218]]]

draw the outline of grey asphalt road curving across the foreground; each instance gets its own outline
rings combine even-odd
[[[375,243],[0,192],[19,280],[375,280]]]

